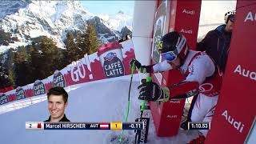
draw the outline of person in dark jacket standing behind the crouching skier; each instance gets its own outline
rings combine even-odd
[[[224,15],[224,21],[226,24],[218,26],[215,30],[210,30],[206,34],[206,37],[197,44],[197,50],[206,51],[206,54],[208,54],[210,58],[214,60],[214,63],[216,63],[216,65],[219,67],[219,70],[222,70],[222,73],[225,72],[226,60],[230,51],[230,40],[232,31],[234,29],[235,13],[235,10],[228,11]],[[197,96],[194,96],[191,102],[186,121],[182,122],[181,124],[182,130],[187,130],[187,124],[191,121],[191,112],[193,110],[196,98]]]

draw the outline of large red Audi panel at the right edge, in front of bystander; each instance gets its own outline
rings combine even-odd
[[[238,1],[226,74],[207,144],[246,141],[256,115],[255,26],[255,2]]]

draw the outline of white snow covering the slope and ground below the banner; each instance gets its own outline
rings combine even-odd
[[[139,116],[138,84],[138,74],[134,74],[128,122],[134,122],[134,119]],[[72,122],[124,122],[129,85],[130,75],[66,87],[69,94],[66,117]],[[114,143],[110,142],[111,138],[119,138],[122,134],[121,130],[25,129],[25,122],[44,121],[48,117],[46,101],[0,114],[0,143],[108,144]],[[154,123],[151,118],[148,143],[183,144],[195,138],[197,133],[197,131],[179,130],[175,137],[158,138],[154,132]],[[126,143],[133,143],[134,130],[125,130],[124,138],[127,139]]]

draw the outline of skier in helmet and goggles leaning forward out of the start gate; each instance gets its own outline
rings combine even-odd
[[[198,91],[196,105],[192,110],[192,122],[210,122],[214,114],[215,105],[221,87],[222,75],[218,66],[215,66],[211,58],[204,52],[189,50],[186,38],[178,32],[165,34],[158,42],[158,50],[164,61],[150,66],[142,66],[137,60],[132,60],[137,70],[142,73],[156,73],[166,70],[179,69],[186,76],[186,80],[173,86],[160,87],[155,82],[145,82],[138,86],[138,98],[146,101],[167,102],[170,98],[191,91]],[[172,91],[178,86],[189,86],[186,91],[178,91],[172,95]],[[176,92],[176,91],[175,91]],[[200,130],[198,138],[191,142],[204,142],[208,130]]]

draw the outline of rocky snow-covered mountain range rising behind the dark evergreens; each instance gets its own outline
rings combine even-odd
[[[131,30],[131,20],[122,12],[103,19],[85,10],[79,1],[1,1],[0,35],[4,36],[0,37],[0,53],[26,46],[31,38],[42,35],[63,48],[66,32],[85,30],[88,22],[94,22],[102,43],[112,42],[122,38],[123,27]]]

